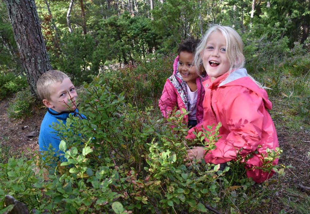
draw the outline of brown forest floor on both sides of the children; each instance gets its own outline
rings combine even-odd
[[[294,111],[287,100],[281,100],[281,97],[271,97],[270,100],[273,103],[270,114],[283,150],[279,163],[292,168],[285,170],[286,175],[280,179],[282,187],[276,190],[267,209],[270,213],[279,213],[281,210],[285,211],[281,213],[309,213],[310,126],[296,121],[298,118],[294,118]],[[46,109],[36,108],[31,116],[12,119],[7,115],[10,101],[0,101],[0,144],[8,146],[13,154],[24,152],[25,156],[31,156],[34,151],[38,151],[40,124]],[[36,136],[27,137],[31,132]],[[271,184],[268,188],[274,186]]]

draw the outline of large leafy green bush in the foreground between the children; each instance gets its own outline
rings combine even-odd
[[[221,211],[229,207],[231,213],[264,210],[262,202],[271,194],[267,183],[254,185],[245,172],[228,176],[242,158],[223,170],[204,161],[185,166],[188,146],[205,145],[202,133],[196,141],[185,140],[188,113],[164,119],[152,107],[141,110],[126,103],[123,93],[113,93],[104,82],[85,86],[85,105],[79,110],[87,119],[70,115],[66,124],[54,127],[67,161],[55,169],[46,153],[45,160],[38,154],[0,163],[0,211],[5,194],[39,213],[201,213],[207,212],[206,205]],[[215,148],[219,128],[206,135],[209,149]],[[266,170],[277,171],[270,162],[280,153],[268,152]]]

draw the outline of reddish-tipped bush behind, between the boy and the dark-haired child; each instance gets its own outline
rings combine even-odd
[[[95,78],[94,82],[103,79],[112,91],[118,94],[124,91],[126,100],[140,107],[151,103],[157,105],[166,79],[173,73],[174,59],[172,54],[149,55],[136,65],[128,65],[117,71],[106,71],[99,78]]]

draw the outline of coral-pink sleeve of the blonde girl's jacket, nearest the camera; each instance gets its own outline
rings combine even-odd
[[[221,138],[215,143],[216,149],[206,154],[206,163],[226,163],[235,159],[237,154],[245,156],[254,152],[258,145],[263,143],[261,142],[264,111],[262,98],[242,87],[237,93],[235,90],[228,92],[223,100],[225,103],[222,103],[222,108],[226,118],[223,123],[229,134],[220,135]]]

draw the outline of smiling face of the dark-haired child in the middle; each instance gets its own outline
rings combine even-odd
[[[181,74],[184,82],[195,82],[196,78],[199,77],[197,69],[193,65],[194,55],[187,51],[181,51],[179,54],[179,73]]]

